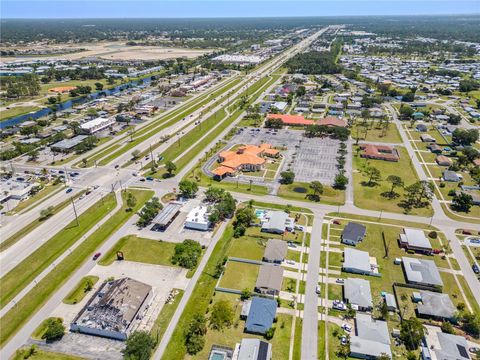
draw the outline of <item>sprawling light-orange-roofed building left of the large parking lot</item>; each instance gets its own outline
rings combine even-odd
[[[259,171],[266,163],[265,157],[277,157],[279,153],[270,144],[244,145],[236,151],[222,151],[218,154],[220,166],[212,172],[216,177],[224,178],[227,175],[233,176],[238,171]]]

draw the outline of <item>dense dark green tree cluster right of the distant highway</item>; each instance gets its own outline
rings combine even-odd
[[[341,41],[334,41],[330,51],[310,51],[300,53],[287,61],[286,66],[290,74],[336,74],[342,67],[337,64],[338,55],[342,48]]]

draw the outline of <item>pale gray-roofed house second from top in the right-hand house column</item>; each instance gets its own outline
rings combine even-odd
[[[402,257],[403,270],[410,284],[443,286],[437,265],[432,260]]]

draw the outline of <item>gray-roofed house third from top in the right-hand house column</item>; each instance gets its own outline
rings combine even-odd
[[[422,301],[417,305],[419,317],[437,320],[452,320],[455,316],[455,306],[448,294],[432,291],[420,291]]]

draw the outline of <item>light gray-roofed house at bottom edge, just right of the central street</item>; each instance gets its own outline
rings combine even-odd
[[[355,335],[350,339],[350,356],[359,359],[375,359],[384,354],[392,357],[387,322],[374,320],[367,314],[357,313]]]

